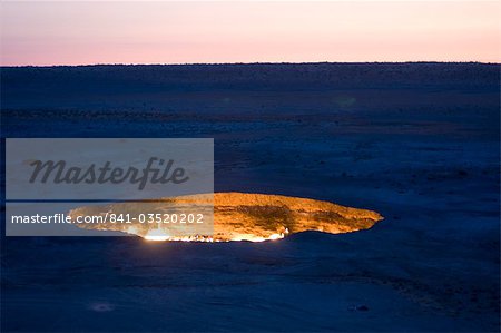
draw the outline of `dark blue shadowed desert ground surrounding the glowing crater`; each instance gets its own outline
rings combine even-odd
[[[8,68],[1,79],[4,137],[214,137],[216,192],[385,217],[263,243],[3,237],[2,331],[499,331],[499,65]]]

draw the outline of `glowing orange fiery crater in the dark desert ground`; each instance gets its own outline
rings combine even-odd
[[[85,216],[121,214],[138,216],[147,204],[149,214],[165,214],[177,207],[179,212],[196,212],[214,203],[214,219],[209,229],[197,228],[190,234],[173,233],[188,225],[185,223],[79,223],[87,229],[117,231],[134,234],[148,241],[262,242],[279,239],[307,231],[328,234],[352,233],[369,229],[383,217],[373,210],[341,206],[330,202],[282,195],[249,193],[215,193],[161,198],[145,203],[118,203],[86,206],[69,213],[72,221]],[[183,210],[184,209],[184,210]],[[196,222],[191,222],[196,223]],[[202,231],[202,232],[200,232]]]

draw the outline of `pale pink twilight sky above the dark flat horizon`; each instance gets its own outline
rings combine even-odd
[[[500,1],[2,1],[1,65],[500,62]]]

